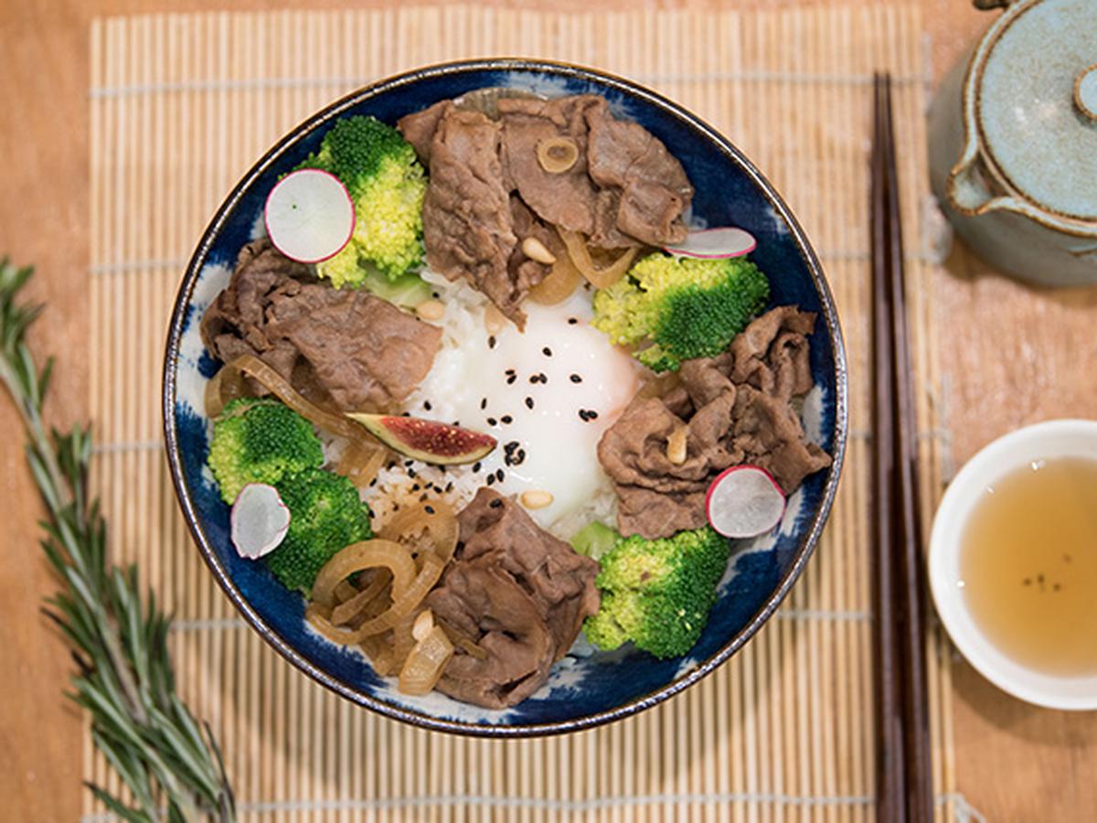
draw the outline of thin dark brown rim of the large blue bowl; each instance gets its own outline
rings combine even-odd
[[[330,675],[308,661],[301,652],[294,649],[287,641],[285,641],[278,632],[263,621],[259,613],[245,598],[242,593],[237,588],[236,584],[229,576],[228,571],[217,559],[216,552],[206,538],[197,510],[194,506],[194,501],[191,498],[190,489],[182,470],[182,459],[177,437],[176,375],[179,362],[180,342],[183,326],[186,320],[188,307],[190,306],[199,274],[205,266],[210,249],[223,229],[228,216],[233,213],[242,198],[244,192],[260,174],[267,170],[272,162],[274,162],[290,146],[299,139],[303,134],[323,125],[324,123],[335,120],[348,109],[358,105],[363,100],[367,100],[383,92],[414,84],[422,79],[433,79],[476,71],[545,74],[556,77],[593,81],[604,88],[624,93],[632,99],[640,100],[646,105],[654,106],[664,114],[685,123],[708,138],[713,148],[728,156],[744,171],[744,173],[750,178],[765,199],[769,202],[770,207],[773,208],[784,225],[788,226],[789,233],[795,243],[796,249],[799,250],[800,256],[811,274],[815,290],[818,293],[819,303],[823,307],[823,319],[830,341],[830,347],[834,351],[835,418],[832,465],[828,470],[826,484],[823,488],[821,505],[818,506],[818,509],[812,518],[810,527],[795,550],[795,556],[789,567],[789,571],[781,578],[774,590],[769,597],[766,598],[746,624],[714,654],[706,659],[699,662],[688,672],[680,674],[670,683],[611,709],[547,723],[488,724],[431,717],[414,709],[407,709],[378,700],[377,698],[366,694],[364,690],[360,690]],[[575,64],[545,59],[527,59],[520,57],[491,57],[453,60],[423,66],[399,75],[394,75],[350,92],[346,97],[340,98],[339,100],[309,115],[307,119],[290,129],[289,133],[280,138],[265,154],[263,154],[263,156],[251,167],[251,169],[249,169],[248,172],[240,178],[218,206],[213,218],[210,221],[210,224],[206,226],[205,232],[202,234],[202,239],[199,241],[194,253],[188,262],[182,282],[180,283],[179,291],[176,295],[163,361],[162,414],[165,448],[168,454],[168,463],[171,472],[172,485],[176,489],[176,496],[179,498],[179,504],[182,508],[183,517],[186,520],[186,526],[192,538],[197,543],[203,560],[213,572],[218,585],[225,594],[228,595],[228,598],[245,617],[251,628],[255,629],[268,643],[270,643],[274,650],[279,652],[279,654],[281,654],[298,669],[307,674],[317,683],[323,684],[327,688],[358,703],[359,706],[364,706],[385,717],[400,720],[423,729],[440,732],[452,732],[477,737],[531,737],[561,734],[565,732],[576,732],[584,729],[591,729],[603,723],[630,717],[643,711],[644,709],[648,709],[656,703],[663,702],[664,700],[667,700],[668,698],[685,690],[687,687],[693,685],[702,677],[713,672],[716,667],[735,654],[735,652],[742,649],[743,645],[758,632],[761,625],[777,610],[793,583],[795,583],[795,580],[800,577],[804,565],[818,542],[823,527],[829,517],[835,493],[838,488],[838,482],[841,476],[841,467],[845,462],[846,440],[849,424],[848,403],[846,348],[838,320],[838,312],[834,302],[834,295],[832,294],[826,277],[823,273],[823,267],[819,263],[818,257],[812,248],[806,234],[803,228],[801,228],[795,216],[792,214],[792,211],[784,203],[780,194],[778,194],[773,185],[761,174],[760,171],[758,171],[754,164],[747,159],[747,157],[738,148],[736,148],[731,140],[722,136],[715,128],[708,125],[700,117],[689,112],[685,106],[663,97],[657,92],[646,89],[638,83],[599,69],[577,66]]]

